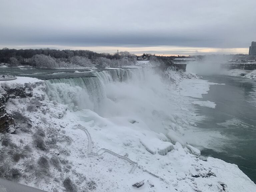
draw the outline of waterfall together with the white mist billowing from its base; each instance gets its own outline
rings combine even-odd
[[[47,96],[62,104],[73,103],[99,116],[139,122],[145,129],[166,133],[178,130],[183,116],[191,111],[180,107],[174,83],[152,68],[110,69],[92,73],[91,77],[45,80]],[[178,115],[177,115],[178,114]],[[124,120],[125,119],[125,120]],[[117,122],[116,122],[117,123]]]

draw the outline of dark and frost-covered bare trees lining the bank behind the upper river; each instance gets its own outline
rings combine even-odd
[[[96,53],[89,50],[56,49],[0,49],[0,62],[11,66],[31,65],[40,68],[78,68],[100,66],[126,66],[136,62],[136,55],[128,51]]]

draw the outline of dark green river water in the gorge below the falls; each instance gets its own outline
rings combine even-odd
[[[256,81],[231,76],[203,76],[211,85],[203,100],[216,103],[215,109],[197,107],[205,119],[198,127],[220,132],[225,139],[216,140],[214,149],[201,154],[234,163],[256,183]]]

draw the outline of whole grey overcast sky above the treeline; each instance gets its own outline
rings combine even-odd
[[[248,52],[256,0],[0,0],[0,48]]]

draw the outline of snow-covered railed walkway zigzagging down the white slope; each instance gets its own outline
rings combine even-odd
[[[105,149],[105,148],[101,148],[100,150],[98,150],[97,153],[92,152],[92,138],[91,138],[91,135],[90,135],[89,131],[88,131],[85,127],[83,127],[82,125],[80,125],[80,124],[77,124],[77,125],[75,125],[75,126],[73,127],[73,129],[76,129],[76,128],[83,130],[83,131],[86,133],[87,137],[88,137],[88,151],[87,151],[87,155],[99,157],[99,156],[102,156],[104,153],[107,152],[107,153],[109,153],[109,154],[112,154],[112,155],[114,155],[114,156],[120,158],[120,159],[124,159],[124,160],[128,161],[130,164],[133,165],[132,168],[131,168],[131,170],[129,171],[129,173],[133,173],[134,170],[136,169],[136,167],[138,167],[139,169],[142,168],[142,167],[138,166],[138,163],[137,163],[137,162],[134,162],[134,161],[132,161],[131,159],[125,157],[125,156],[119,155],[119,154],[117,154],[117,153],[115,153],[115,152],[113,152],[113,151],[110,151],[110,150],[108,150],[108,149]],[[100,151],[102,151],[102,152],[100,153]],[[146,169],[143,169],[143,168],[142,168],[142,170],[145,171],[145,172],[147,172],[147,173],[149,173],[149,174],[151,174],[151,175],[154,176],[154,177],[160,178],[159,176],[155,175],[154,173],[151,173],[150,171],[148,171],[148,170],[146,170]]]

